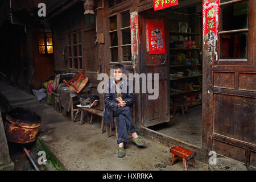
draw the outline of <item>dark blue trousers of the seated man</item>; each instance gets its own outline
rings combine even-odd
[[[117,111],[114,111],[114,117],[118,117],[118,144],[123,142],[126,145],[127,132],[135,132],[132,114],[133,112],[129,106],[117,107]]]

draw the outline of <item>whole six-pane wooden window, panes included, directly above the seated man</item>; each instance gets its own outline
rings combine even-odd
[[[117,15],[110,16],[109,19],[111,62],[131,62],[130,12],[125,11]],[[122,59],[119,56],[119,53],[121,53],[120,56]]]

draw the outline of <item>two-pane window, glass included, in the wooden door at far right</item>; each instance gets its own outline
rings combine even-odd
[[[248,61],[250,44],[249,1],[220,1],[218,40],[220,61]],[[253,19],[253,17],[251,17]]]

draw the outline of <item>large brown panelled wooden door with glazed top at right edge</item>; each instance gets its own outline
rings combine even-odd
[[[251,167],[256,167],[254,14],[254,0],[220,3],[218,59],[207,59],[208,35],[203,48],[203,147]]]

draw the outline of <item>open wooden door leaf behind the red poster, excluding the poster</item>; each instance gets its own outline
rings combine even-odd
[[[168,19],[163,14],[148,11],[140,15],[141,20],[141,73],[159,73],[159,97],[156,100],[149,100],[152,94],[142,94],[142,126],[148,127],[159,123],[170,121],[170,95],[169,85],[169,60],[168,55]],[[149,55],[147,51],[147,21],[163,21],[165,31],[166,53],[160,55]],[[166,61],[165,61],[166,60]],[[154,88],[154,81],[152,82]]]

